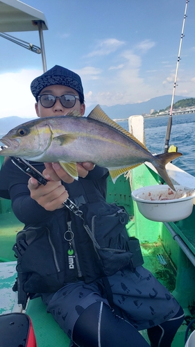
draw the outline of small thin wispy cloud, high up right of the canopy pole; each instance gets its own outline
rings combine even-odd
[[[96,48],[94,49],[94,51],[87,54],[87,57],[108,56],[108,54],[117,51],[117,49],[123,46],[124,43],[125,43],[124,41],[119,41],[113,38],[100,41],[96,45]]]

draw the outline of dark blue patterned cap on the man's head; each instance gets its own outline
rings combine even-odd
[[[79,94],[80,102],[84,102],[83,85],[80,76],[71,70],[65,69],[65,67],[55,65],[55,67],[52,67],[52,69],[33,80],[31,92],[35,96],[36,101],[42,89],[49,85],[67,85],[67,87],[76,90]]]

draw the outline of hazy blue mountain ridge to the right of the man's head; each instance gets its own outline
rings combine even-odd
[[[163,108],[167,108],[167,106],[171,105],[171,97],[171,95],[164,95],[150,99],[149,101],[144,101],[143,103],[128,103],[126,105],[114,106],[101,105],[101,108],[111,119],[128,118],[132,115],[150,113],[151,109],[162,110]],[[185,96],[175,96],[174,101],[176,102],[181,99],[189,98]],[[88,115],[95,106],[96,105],[91,105],[86,108],[86,115]]]

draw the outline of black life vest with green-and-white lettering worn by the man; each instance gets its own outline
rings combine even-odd
[[[24,306],[28,294],[54,292],[66,282],[89,283],[130,264],[126,210],[106,203],[92,180],[82,180],[78,187],[71,200],[80,217],[63,208],[17,234],[13,250],[19,303]]]

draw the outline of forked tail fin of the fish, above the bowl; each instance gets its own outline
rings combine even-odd
[[[173,183],[171,182],[171,179],[169,178],[165,165],[168,162],[171,162],[172,160],[180,157],[182,153],[177,153],[177,152],[170,152],[170,153],[162,153],[158,155],[154,155],[154,161],[152,162],[153,166],[155,169],[157,169],[158,174],[163,178],[163,180],[173,189],[174,191],[176,190],[173,186]]]

